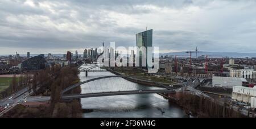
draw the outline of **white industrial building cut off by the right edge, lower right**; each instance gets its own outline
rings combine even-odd
[[[241,103],[250,106],[251,109],[256,108],[256,86],[247,88],[244,86],[234,86],[232,92],[232,102]]]

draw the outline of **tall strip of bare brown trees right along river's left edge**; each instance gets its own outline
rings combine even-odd
[[[76,67],[64,67],[60,70],[59,76],[51,85],[51,105],[50,111],[52,117],[81,117],[82,109],[80,99],[74,99],[69,102],[61,100],[61,91],[68,86],[80,82],[79,71]],[[80,94],[80,86],[72,89],[67,94]]]

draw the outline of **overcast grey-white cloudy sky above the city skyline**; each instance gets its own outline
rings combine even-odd
[[[256,53],[256,1],[1,0],[0,54],[134,46],[146,26],[160,52]]]

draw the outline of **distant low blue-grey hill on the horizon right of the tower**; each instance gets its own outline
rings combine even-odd
[[[182,57],[189,57],[189,53],[185,52],[170,52],[170,53],[160,53],[160,56],[165,55],[172,55],[172,56],[182,56]],[[211,55],[209,57],[230,57],[230,58],[245,58],[245,57],[256,57],[256,53],[238,53],[238,52],[199,52],[197,53],[197,57],[202,55]],[[196,57],[196,53],[192,53],[192,57]]]

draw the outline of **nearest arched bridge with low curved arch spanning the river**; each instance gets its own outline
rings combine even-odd
[[[129,89],[133,89],[133,88],[129,88],[129,86],[126,86],[126,85],[115,85],[115,84],[109,85],[108,88],[102,88],[101,85],[105,85],[104,79],[106,79],[106,78],[113,79],[113,78],[120,78],[120,77],[123,78],[126,76],[103,76],[103,77],[92,78],[90,80],[79,82],[75,85],[71,85],[68,88],[64,89],[62,91],[61,98],[62,99],[76,99],[76,98],[103,97],[103,96],[112,96],[112,95],[175,93],[174,89],[172,89],[171,87],[164,86],[161,84],[158,84],[158,89],[151,89],[151,90],[143,90],[143,89],[129,90]],[[130,79],[131,79],[131,77],[130,77]],[[115,80],[115,79],[113,79],[113,80]],[[100,82],[101,85],[93,84],[93,82],[96,82],[96,83]],[[80,86],[82,84],[88,84],[88,83],[90,83],[89,85],[87,85],[90,87],[90,89],[96,89],[97,91],[93,92],[93,90],[91,90],[90,93],[85,93],[85,94],[68,94],[68,95],[64,94],[67,91],[69,91],[73,88],[76,88],[77,86]],[[42,96],[28,97],[27,102],[49,101],[50,99],[51,99],[50,97],[42,97]]]

